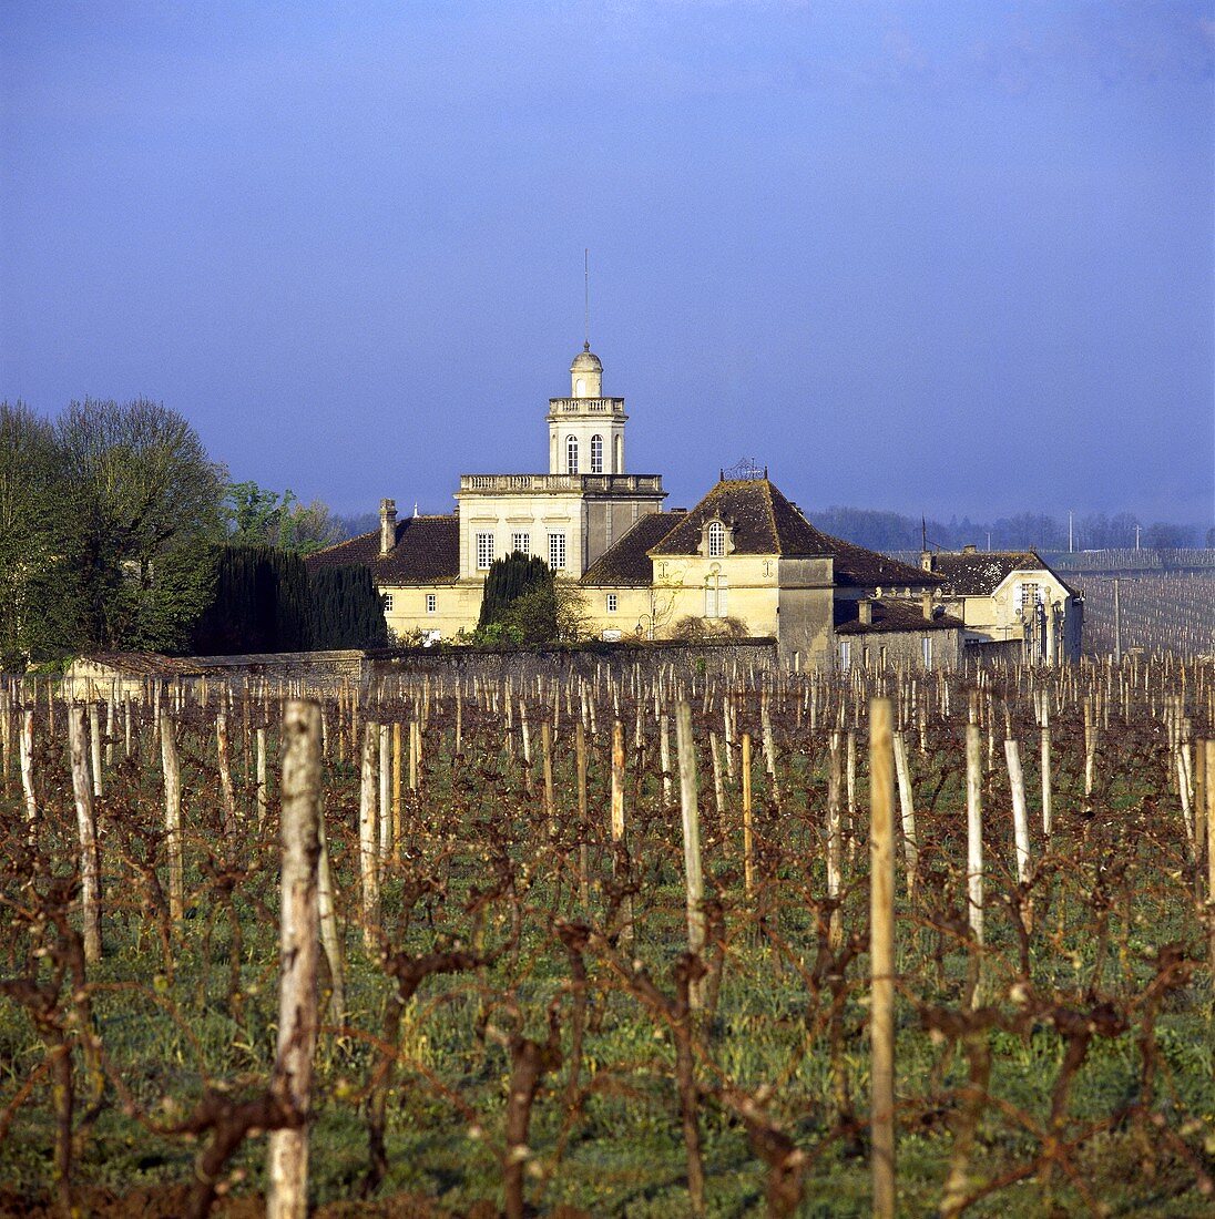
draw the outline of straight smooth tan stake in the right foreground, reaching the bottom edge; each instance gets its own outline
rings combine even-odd
[[[870,703],[870,1136],[873,1215],[894,1219],[894,757],[889,698]]]

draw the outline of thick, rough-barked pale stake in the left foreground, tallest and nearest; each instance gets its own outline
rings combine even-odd
[[[317,1029],[321,708],[315,702],[288,702],[283,736],[278,1058],[271,1089],[292,1115],[292,1124],[270,1136],[266,1214],[268,1219],[304,1219],[307,1115]]]

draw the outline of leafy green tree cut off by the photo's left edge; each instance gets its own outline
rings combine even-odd
[[[0,668],[72,651],[79,591],[54,428],[22,402],[0,402]]]

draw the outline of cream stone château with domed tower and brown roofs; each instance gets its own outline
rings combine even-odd
[[[473,630],[490,563],[522,551],[578,580],[608,639],[670,638],[688,620],[711,634],[737,620],[776,639],[794,667],[958,663],[962,623],[941,605],[939,574],[821,533],[766,472],[722,477],[690,511],[666,512],[661,475],[626,472],[626,421],[586,345],[570,396],[549,399],[548,473],[464,474],[444,516],[399,519],[383,500],[378,533],[307,564],[367,564],[403,636]]]

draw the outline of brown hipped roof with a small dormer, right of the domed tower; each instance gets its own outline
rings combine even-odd
[[[734,527],[736,555],[784,555],[834,560],[836,584],[844,588],[936,588],[939,577],[878,555],[819,529],[766,478],[722,479],[690,512],[679,517],[650,553],[697,555],[706,521],[720,516]]]

